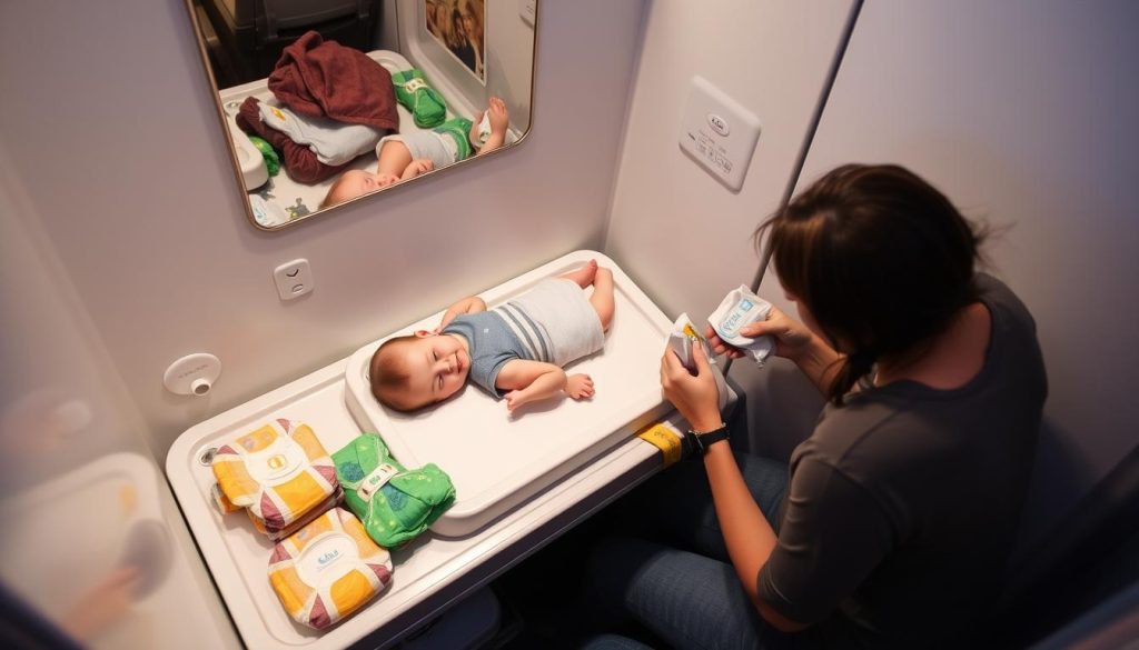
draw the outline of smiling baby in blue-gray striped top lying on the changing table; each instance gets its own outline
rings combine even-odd
[[[371,357],[371,392],[398,411],[446,400],[468,377],[506,397],[511,412],[563,392],[591,397],[593,380],[560,367],[601,349],[611,320],[613,272],[590,260],[489,312],[472,296],[451,305],[435,331],[384,342]]]

